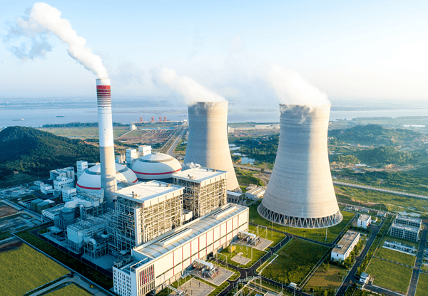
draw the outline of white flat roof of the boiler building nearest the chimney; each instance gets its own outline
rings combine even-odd
[[[161,181],[142,182],[125,187],[115,192],[116,196],[137,201],[138,203],[158,203],[165,199],[183,194],[184,187],[171,185]],[[159,199],[162,200],[159,200]]]

